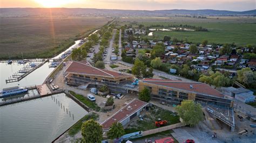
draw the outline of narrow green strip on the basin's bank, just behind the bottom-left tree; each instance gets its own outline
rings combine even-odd
[[[90,119],[93,119],[93,120],[96,120],[99,118],[99,115],[95,112],[92,112],[88,115],[85,115],[82,119],[80,119],[76,124],[74,124],[68,131],[69,135],[73,136],[75,134],[77,134],[80,130],[81,130],[81,127],[82,127],[82,124],[84,121],[87,121],[87,120],[90,120]]]

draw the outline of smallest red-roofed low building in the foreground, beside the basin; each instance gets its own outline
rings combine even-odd
[[[123,126],[127,125],[131,119],[139,116],[140,112],[145,110],[148,104],[149,103],[140,101],[139,99],[133,99],[130,103],[100,124],[102,125],[103,132],[109,131],[111,125],[116,122],[121,123]]]

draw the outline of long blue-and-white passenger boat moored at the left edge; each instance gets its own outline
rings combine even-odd
[[[22,93],[27,92],[27,91],[28,91],[28,89],[22,88],[22,87],[4,88],[0,92],[0,98],[8,97],[8,96],[11,96],[11,95],[22,94]]]

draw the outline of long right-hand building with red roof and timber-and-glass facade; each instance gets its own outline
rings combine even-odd
[[[139,91],[142,91],[145,87],[150,90],[151,98],[167,104],[179,104],[183,100],[191,99],[201,104],[230,107],[233,105],[232,101],[225,98],[225,95],[221,92],[201,82],[145,78],[139,81]]]

